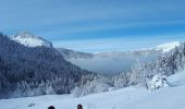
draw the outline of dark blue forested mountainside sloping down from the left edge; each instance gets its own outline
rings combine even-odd
[[[0,34],[0,98],[69,94],[95,75],[54,48],[26,47]]]

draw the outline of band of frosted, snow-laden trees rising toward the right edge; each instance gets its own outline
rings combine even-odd
[[[75,96],[102,93],[137,85],[146,89],[159,89],[171,86],[168,76],[174,75],[185,68],[185,43],[166,53],[162,53],[155,61],[139,61],[131,71],[109,77],[95,78],[88,84],[75,87]]]

